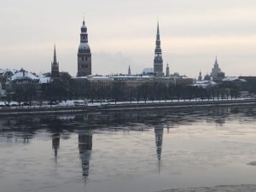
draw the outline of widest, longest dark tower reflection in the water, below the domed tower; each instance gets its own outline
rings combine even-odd
[[[84,183],[89,177],[90,154],[92,149],[92,131],[79,132],[79,154],[82,162]]]

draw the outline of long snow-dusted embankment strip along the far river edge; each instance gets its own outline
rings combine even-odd
[[[0,116],[16,116],[21,114],[44,114],[44,113],[94,113],[94,112],[115,112],[133,110],[160,110],[178,108],[211,108],[211,107],[236,107],[256,106],[256,100],[229,100],[229,101],[193,101],[193,102],[139,102],[139,103],[118,103],[98,104],[90,106],[47,106],[47,107],[26,107],[26,108],[1,108]]]

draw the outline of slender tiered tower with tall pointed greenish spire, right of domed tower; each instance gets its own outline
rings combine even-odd
[[[158,22],[157,23],[155,49],[154,49],[154,73],[156,74],[156,76],[164,76],[162,49],[161,49],[160,45],[161,45],[160,30],[159,30],[159,22]]]

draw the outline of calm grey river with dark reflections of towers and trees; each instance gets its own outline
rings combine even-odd
[[[0,118],[1,192],[256,184],[254,161],[256,108]]]

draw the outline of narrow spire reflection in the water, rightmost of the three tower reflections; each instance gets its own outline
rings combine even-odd
[[[155,147],[156,147],[159,173],[160,173],[160,164],[161,164],[163,134],[164,134],[164,125],[154,125]]]

